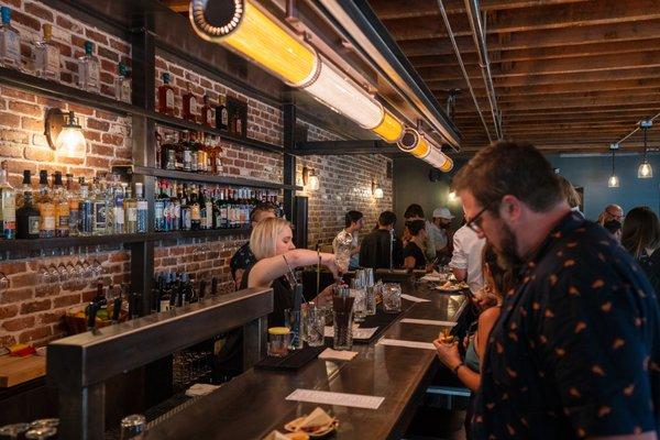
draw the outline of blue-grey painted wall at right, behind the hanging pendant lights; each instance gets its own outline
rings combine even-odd
[[[615,170],[619,178],[618,188],[608,188],[612,174],[612,156],[561,156],[549,155],[548,160],[559,174],[573,186],[584,188],[584,215],[596,220],[608,204],[620,205],[625,212],[638,206],[648,206],[656,213],[660,205],[660,155],[649,154],[653,178],[638,179],[637,167],[641,155],[616,156]]]

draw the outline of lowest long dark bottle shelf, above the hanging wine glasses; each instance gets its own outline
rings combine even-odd
[[[64,237],[34,240],[0,240],[0,252],[31,252],[42,249],[95,246],[105,244],[142,243],[147,241],[204,239],[226,235],[246,235],[251,228],[205,229],[198,231],[147,232],[132,234]],[[0,255],[1,257],[2,255]]]

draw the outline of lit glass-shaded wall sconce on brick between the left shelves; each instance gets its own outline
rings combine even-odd
[[[59,109],[48,109],[44,134],[51,148],[56,152],[67,157],[85,158],[87,141],[73,111],[64,114]]]

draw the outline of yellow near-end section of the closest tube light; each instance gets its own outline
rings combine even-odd
[[[290,35],[250,1],[229,2],[224,23],[205,14],[208,0],[190,1],[193,29],[204,40],[222,43],[292,86],[304,86],[317,74],[316,52]],[[230,4],[232,3],[232,4]]]

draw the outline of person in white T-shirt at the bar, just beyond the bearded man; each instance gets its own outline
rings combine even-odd
[[[468,223],[454,233],[453,253],[449,267],[457,280],[464,280],[470,286],[470,290],[477,294],[484,286],[482,260],[486,240],[480,238],[474,231],[474,228],[477,227],[469,221],[468,216],[465,216],[465,220]]]

